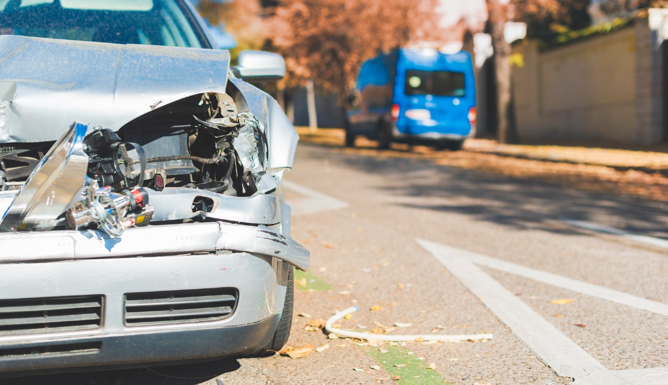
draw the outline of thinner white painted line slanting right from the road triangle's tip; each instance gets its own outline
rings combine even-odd
[[[668,316],[668,304],[648,300],[647,298],[639,296],[633,296],[625,292],[618,292],[617,290],[604,288],[603,286],[597,286],[595,284],[590,284],[589,282],[582,282],[572,278],[558,276],[557,274],[544,272],[542,270],[527,268],[526,266],[483,256],[482,254],[476,254],[466,250],[454,250],[460,253],[460,255],[466,256],[466,258],[472,260],[478,265],[487,266],[488,268],[492,268],[500,272],[514,274],[515,276],[528,278],[536,282],[542,282],[544,284],[556,286],[557,288],[582,293],[590,297],[599,298],[601,300],[615,302],[615,304],[629,306],[630,308],[647,310],[647,312]]]

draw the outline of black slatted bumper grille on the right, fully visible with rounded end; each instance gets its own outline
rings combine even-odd
[[[128,326],[218,321],[234,312],[234,289],[180,290],[126,294]]]

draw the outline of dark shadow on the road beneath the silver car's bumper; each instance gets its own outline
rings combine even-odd
[[[236,359],[196,364],[156,366],[104,372],[46,374],[19,378],[0,378],[3,385],[196,385],[234,372],[240,368]],[[214,381],[215,382],[215,381]]]

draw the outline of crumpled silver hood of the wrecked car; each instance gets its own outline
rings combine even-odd
[[[222,50],[2,35],[0,143],[55,141],[73,121],[118,130],[184,97],[225,93],[229,64]]]

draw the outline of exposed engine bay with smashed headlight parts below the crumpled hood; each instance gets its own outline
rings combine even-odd
[[[216,215],[221,200],[254,196],[268,159],[263,123],[228,93],[158,101],[118,131],[75,123],[56,143],[0,145],[0,194],[18,191],[0,232],[98,229],[120,237],[152,222],[225,220]],[[77,172],[80,185],[60,185]]]

